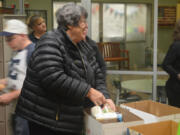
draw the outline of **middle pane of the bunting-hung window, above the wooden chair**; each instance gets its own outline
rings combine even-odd
[[[103,41],[124,39],[124,4],[103,4]]]

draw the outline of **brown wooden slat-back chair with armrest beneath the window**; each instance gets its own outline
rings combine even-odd
[[[105,61],[118,62],[119,69],[129,69],[129,51],[120,49],[120,43],[101,42],[97,44]]]

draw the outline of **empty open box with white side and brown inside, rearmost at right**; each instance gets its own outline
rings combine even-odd
[[[120,106],[142,118],[145,123],[163,120],[180,120],[180,108],[152,100],[125,103]]]

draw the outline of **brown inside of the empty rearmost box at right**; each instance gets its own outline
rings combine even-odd
[[[158,117],[180,113],[179,108],[169,106],[167,104],[161,104],[158,102],[154,102],[152,100],[144,100],[144,101],[125,103],[123,105],[135,108],[140,111],[150,113],[150,114],[158,116]]]

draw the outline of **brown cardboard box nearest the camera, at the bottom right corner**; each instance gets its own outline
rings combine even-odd
[[[177,135],[177,130],[178,123],[169,120],[129,127],[127,135]]]

